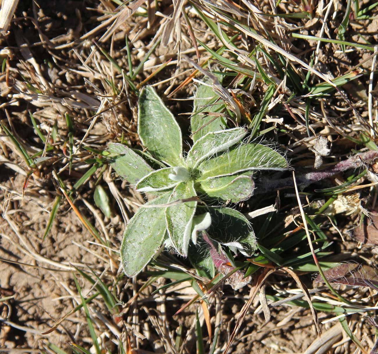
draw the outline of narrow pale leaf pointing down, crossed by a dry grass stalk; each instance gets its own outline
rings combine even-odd
[[[181,202],[183,199],[195,197],[194,183],[179,183],[169,197],[169,202],[177,204],[166,209],[167,230],[177,252],[186,256],[192,232],[192,223],[197,202]]]

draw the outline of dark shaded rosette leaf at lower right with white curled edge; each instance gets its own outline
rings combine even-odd
[[[253,255],[256,250],[256,237],[251,223],[242,213],[231,208],[209,207],[206,211],[212,219],[208,233],[213,240],[246,256]]]

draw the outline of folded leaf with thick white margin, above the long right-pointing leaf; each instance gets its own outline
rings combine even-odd
[[[205,159],[209,159],[218,152],[225,151],[232,145],[239,143],[247,134],[244,128],[225,129],[208,132],[198,139],[189,150],[186,157],[186,165],[197,168]]]

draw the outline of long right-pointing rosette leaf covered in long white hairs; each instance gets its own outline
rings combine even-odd
[[[198,166],[201,175],[197,181],[244,171],[264,169],[283,171],[287,168],[286,159],[270,147],[261,144],[243,144],[213,159],[203,161]]]

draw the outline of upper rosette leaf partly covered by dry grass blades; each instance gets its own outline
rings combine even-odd
[[[215,103],[217,102],[217,103]],[[220,112],[224,107],[223,101],[215,94],[211,86],[200,85],[194,95],[194,115],[191,117],[193,142],[208,132],[225,129],[226,124],[222,117],[204,115],[203,112]]]

